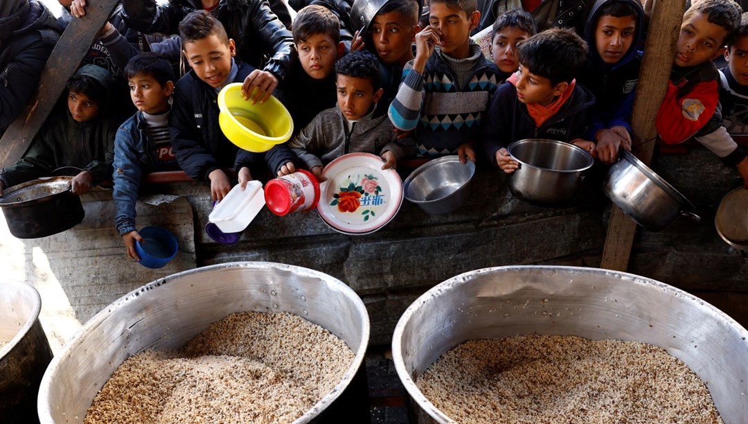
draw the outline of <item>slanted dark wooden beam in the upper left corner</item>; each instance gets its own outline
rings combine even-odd
[[[86,14],[73,18],[42,70],[36,93],[25,111],[10,123],[0,139],[0,167],[12,165],[28,150],[31,140],[49,116],[67,80],[78,69],[96,34],[104,26],[119,0],[88,1]]]

